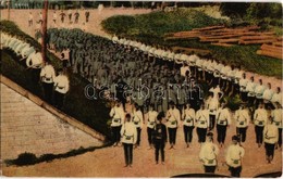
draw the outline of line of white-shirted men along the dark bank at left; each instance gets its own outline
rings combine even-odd
[[[11,50],[12,55],[15,55],[27,71],[32,71],[32,80],[34,84],[41,82],[45,100],[48,103],[54,104],[58,108],[63,107],[64,97],[70,88],[69,77],[63,68],[60,68],[56,75],[51,63],[48,60],[44,62],[39,49],[22,37],[1,33],[2,49]]]

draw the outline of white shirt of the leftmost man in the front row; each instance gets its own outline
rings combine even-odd
[[[112,117],[112,123],[111,123],[112,127],[118,127],[124,124],[125,113],[122,105],[119,107],[118,106],[112,107],[109,115],[110,117]]]

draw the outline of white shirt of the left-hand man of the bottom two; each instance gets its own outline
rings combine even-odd
[[[201,144],[199,152],[199,159],[202,161],[205,166],[216,166],[217,155],[219,154],[219,148],[211,141],[207,141]]]

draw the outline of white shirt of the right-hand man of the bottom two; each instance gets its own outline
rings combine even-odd
[[[231,167],[239,167],[242,165],[242,158],[245,155],[244,148],[239,146],[239,144],[231,144],[227,148],[225,161],[226,164]]]

